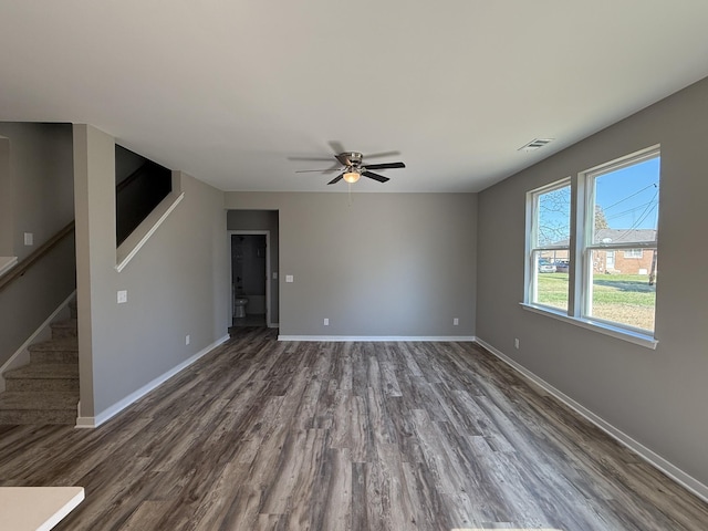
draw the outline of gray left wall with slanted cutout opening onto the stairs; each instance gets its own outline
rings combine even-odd
[[[81,416],[95,417],[227,335],[226,211],[221,191],[177,175],[184,200],[117,272],[114,139],[76,125],[74,148]]]

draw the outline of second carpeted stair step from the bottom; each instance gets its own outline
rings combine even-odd
[[[8,392],[77,392],[79,365],[30,363],[4,373]]]

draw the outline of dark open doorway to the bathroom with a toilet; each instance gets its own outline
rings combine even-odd
[[[233,230],[229,239],[232,325],[270,326],[270,231]]]

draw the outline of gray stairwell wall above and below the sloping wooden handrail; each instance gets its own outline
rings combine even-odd
[[[0,254],[20,261],[74,219],[72,129],[0,123]],[[24,246],[24,232],[34,244]],[[74,291],[74,239],[0,292],[0,365]]]

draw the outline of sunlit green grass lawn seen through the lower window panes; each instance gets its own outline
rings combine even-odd
[[[568,273],[539,273],[541,304],[568,308]],[[656,285],[646,274],[596,274],[593,316],[643,330],[654,330]]]

